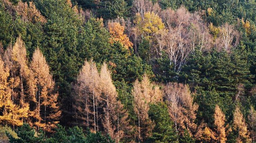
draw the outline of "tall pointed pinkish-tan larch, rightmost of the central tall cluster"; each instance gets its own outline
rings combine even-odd
[[[113,139],[118,143],[124,137],[124,131],[129,128],[127,114],[120,101],[117,101],[117,92],[112,83],[111,73],[107,64],[103,63],[100,71],[99,89],[101,92],[101,104],[103,107],[103,126]],[[120,128],[121,127],[121,128]]]

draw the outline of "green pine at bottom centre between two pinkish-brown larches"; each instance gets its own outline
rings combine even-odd
[[[176,143],[177,137],[173,128],[173,122],[170,119],[168,107],[165,103],[159,102],[151,104],[148,115],[155,123],[152,136],[146,142],[148,143]]]

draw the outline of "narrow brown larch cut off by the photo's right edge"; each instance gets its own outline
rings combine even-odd
[[[255,131],[256,131],[256,111],[253,106],[250,107],[249,115],[248,115],[248,125],[250,130],[250,136],[252,142],[255,142]]]

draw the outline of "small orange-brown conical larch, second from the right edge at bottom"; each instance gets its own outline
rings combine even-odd
[[[240,107],[237,106],[234,112],[234,129],[238,131],[237,142],[248,142],[250,141],[247,125],[245,123],[243,114],[240,111]]]

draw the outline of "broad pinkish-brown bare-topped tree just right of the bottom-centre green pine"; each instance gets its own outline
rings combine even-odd
[[[181,83],[169,83],[165,87],[165,98],[169,114],[175,124],[176,134],[187,130],[191,135],[196,133],[195,124],[198,105],[193,103],[189,88]]]

